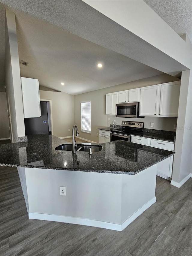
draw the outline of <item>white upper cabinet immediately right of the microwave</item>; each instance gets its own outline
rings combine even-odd
[[[158,116],[161,85],[141,88],[140,116]]]

